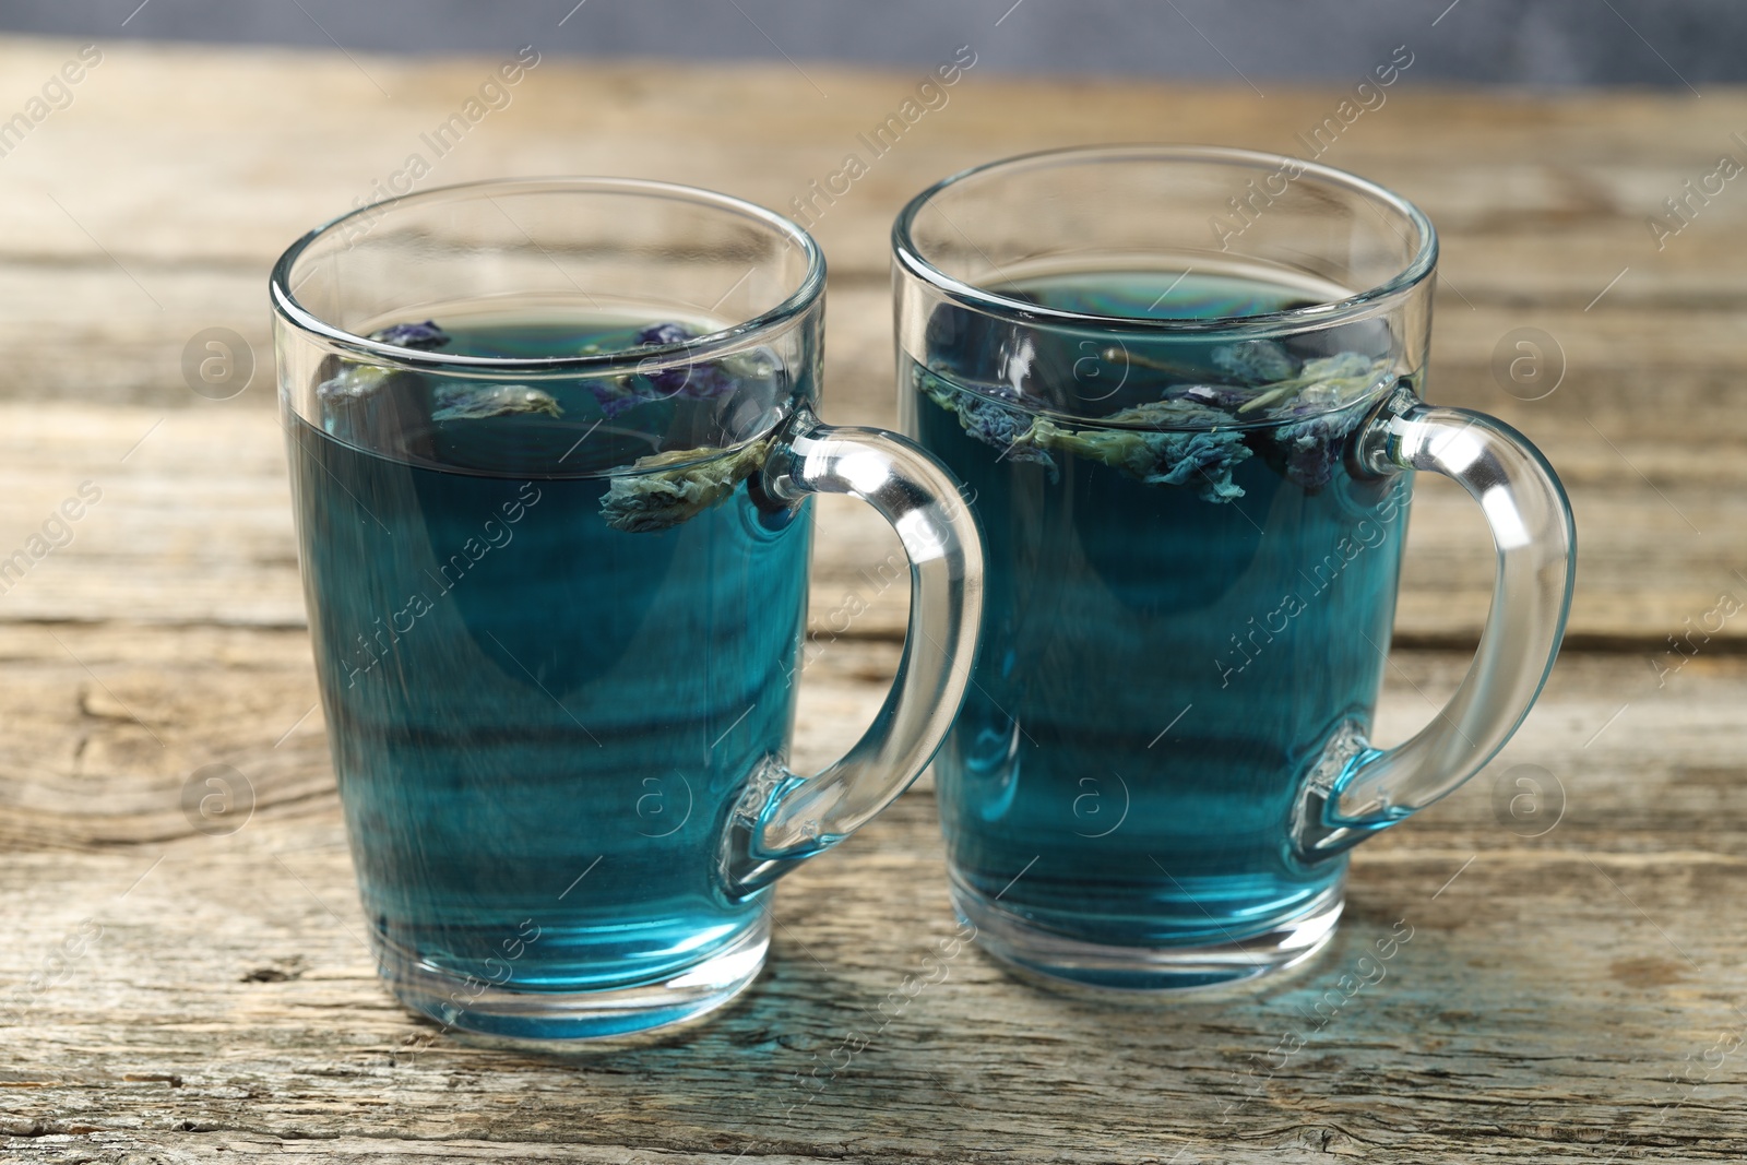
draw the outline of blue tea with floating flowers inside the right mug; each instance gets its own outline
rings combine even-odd
[[[1113,318],[1326,302],[1183,272],[1001,293]],[[1345,861],[1298,861],[1289,826],[1385,665],[1410,475],[1357,480],[1343,454],[1394,384],[1387,328],[1019,330],[943,304],[926,348],[907,428],[987,538],[973,685],[935,762],[959,908],[996,943],[1003,917],[1057,936],[1062,975],[1073,950],[1219,947],[1331,900]]]

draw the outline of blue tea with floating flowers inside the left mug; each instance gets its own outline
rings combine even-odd
[[[452,313],[377,337],[540,356],[685,334]],[[730,901],[715,872],[728,807],[786,748],[811,517],[748,496],[756,440],[711,449],[709,435],[728,389],[755,424],[797,386],[756,360],[538,388],[327,372],[323,424],[290,423],[290,465],[334,767],[390,983],[444,1022],[570,1036],[477,1001],[662,983],[739,948],[756,962],[762,894]],[[583,1034],[613,1031],[610,1011],[590,1015]]]

